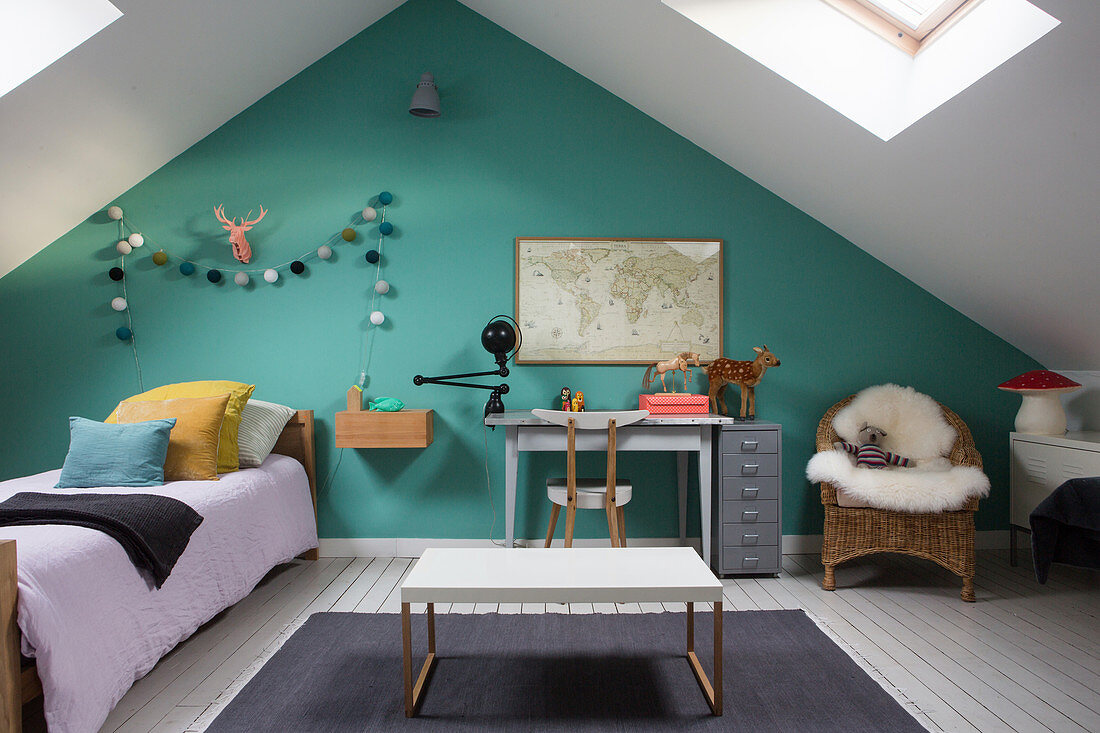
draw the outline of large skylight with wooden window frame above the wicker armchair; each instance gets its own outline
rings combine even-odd
[[[1027,0],[662,2],[882,140],[1058,25]],[[857,7],[889,32],[836,12],[840,4]],[[899,34],[919,45],[900,42]],[[727,81],[737,94],[736,79]]]

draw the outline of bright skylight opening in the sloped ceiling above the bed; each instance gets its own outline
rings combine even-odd
[[[121,17],[108,0],[0,2],[0,97]]]

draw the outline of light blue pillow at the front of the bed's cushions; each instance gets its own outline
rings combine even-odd
[[[160,486],[174,419],[107,425],[69,418],[69,450],[55,489]]]

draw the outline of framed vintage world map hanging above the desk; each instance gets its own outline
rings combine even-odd
[[[518,363],[722,355],[721,239],[516,238]]]

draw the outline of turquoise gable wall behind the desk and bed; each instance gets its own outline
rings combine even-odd
[[[424,70],[441,86],[443,117],[406,111]],[[862,386],[911,384],[952,405],[974,429],[993,482],[981,528],[1008,518],[1008,431],[1016,401],[1003,379],[1036,366],[862,250],[654,122],[622,99],[451,0],[411,0],[317,62],[116,199],[168,251],[232,269],[211,214],[268,208],[250,234],[251,266],[286,262],[343,227],[377,192],[388,218],[381,302],[367,333],[369,395],[436,411],[427,450],[346,450],[320,495],[324,537],[485,537],[486,444],[503,535],[504,435],[481,427],[485,394],[414,387],[415,373],[488,369],[479,335],[512,313],[514,238],[681,237],[725,240],[725,342],[749,358],[767,342],[782,366],[759,387],[761,418],[782,423],[783,530],[821,532],[803,468],[824,411]],[[195,379],[254,382],[255,396],[310,407],[318,466],[337,463],[333,414],[358,378],[377,236],[312,260],[306,276],[240,288],[156,267],[147,244],[128,258],[134,331],[146,389]],[[54,468],[66,418],[101,418],[138,392],[119,287],[117,225],[105,212],[0,280],[7,380],[3,478]],[[548,405],[562,385],[588,406],[637,404],[638,366],[520,365],[512,408]],[[696,382],[701,387],[705,381]],[[736,402],[736,397],[734,397]],[[601,459],[586,457],[593,470]],[[546,532],[542,489],[560,456],[522,457],[517,536]],[[631,536],[676,529],[671,456],[624,455],[636,482]],[[524,489],[526,486],[526,489]],[[697,534],[697,507],[692,506]],[[582,513],[579,536],[606,533]]]

